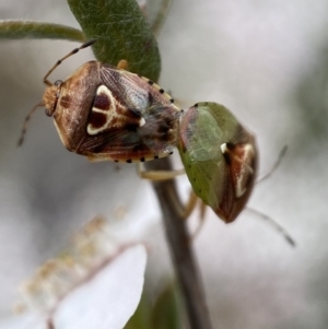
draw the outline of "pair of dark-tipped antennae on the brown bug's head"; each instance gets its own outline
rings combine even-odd
[[[91,39],[86,43],[84,43],[83,45],[81,45],[79,48],[75,48],[73,49],[72,51],[70,51],[68,55],[66,55],[65,57],[62,57],[61,59],[59,59],[55,66],[47,72],[47,74],[45,75],[44,78],[44,83],[51,87],[54,85],[54,83],[51,83],[49,80],[48,80],[48,77],[54,72],[54,70],[63,61],[66,60],[67,58],[69,58],[70,56],[79,52],[79,50],[81,49],[84,49],[86,47],[90,47],[92,46],[94,43],[96,42],[96,39]],[[55,85],[59,85],[60,84],[60,81],[56,81],[55,82]],[[27,114],[27,116],[25,117],[25,120],[24,120],[24,124],[23,124],[23,128],[22,128],[22,132],[21,132],[21,137],[19,139],[19,142],[17,142],[17,145],[21,146],[23,144],[23,141],[24,141],[24,137],[25,137],[25,133],[26,133],[26,130],[27,130],[27,125],[28,125],[28,121],[32,117],[32,115],[35,113],[35,110],[38,108],[38,107],[43,107],[46,105],[46,102],[45,99],[43,99],[42,102],[39,102],[38,104],[36,104],[31,110],[30,113]]]

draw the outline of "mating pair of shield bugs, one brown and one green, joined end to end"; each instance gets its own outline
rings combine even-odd
[[[144,162],[178,148],[195,193],[226,223],[245,208],[257,174],[257,146],[222,105],[198,103],[184,114],[174,99],[147,78],[90,61],[66,81],[48,81],[62,60],[45,75],[39,106],[52,116],[63,145],[91,160]]]

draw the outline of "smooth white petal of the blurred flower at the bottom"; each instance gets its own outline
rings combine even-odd
[[[145,259],[141,245],[124,251],[59,304],[54,315],[55,328],[122,328],[140,301]]]

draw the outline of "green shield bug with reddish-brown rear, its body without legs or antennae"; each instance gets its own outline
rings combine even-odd
[[[198,103],[181,118],[178,150],[195,193],[224,222],[233,222],[256,179],[254,134],[224,106]]]

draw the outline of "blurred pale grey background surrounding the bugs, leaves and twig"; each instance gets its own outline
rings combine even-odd
[[[0,20],[8,19],[79,27],[65,0],[0,0]],[[289,148],[249,207],[282,224],[296,248],[247,211],[225,225],[209,210],[195,240],[214,328],[328,327],[327,22],[325,0],[176,0],[159,34],[161,86],[184,107],[229,107],[257,136],[260,173]],[[16,148],[26,114],[42,99],[43,77],[77,45],[0,42],[0,316],[17,284],[96,214],[117,236],[148,242],[147,290],[173,275],[157,201],[133,165],[69,153],[43,109]],[[92,58],[81,51],[51,81]],[[173,160],[181,167],[178,154]],[[187,199],[186,177],[178,185]]]

